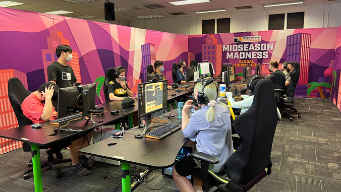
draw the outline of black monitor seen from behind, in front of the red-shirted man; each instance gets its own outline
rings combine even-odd
[[[86,103],[83,102],[83,92]],[[95,95],[96,83],[58,89],[58,118],[81,111],[88,115],[88,111],[95,108]]]

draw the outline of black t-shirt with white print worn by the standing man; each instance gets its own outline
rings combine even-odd
[[[47,67],[47,81],[55,81],[59,88],[72,87],[77,78],[71,66],[54,61]]]

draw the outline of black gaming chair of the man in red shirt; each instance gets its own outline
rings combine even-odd
[[[19,126],[32,124],[32,121],[24,115],[21,109],[21,104],[30,94],[31,91],[27,90],[18,78],[11,78],[8,80],[8,97],[10,99],[14,113],[16,114]],[[63,159],[63,154],[61,153],[62,148],[68,147],[70,144],[70,142],[64,142],[63,145],[58,143],[54,144],[53,146],[42,147],[41,149],[51,149],[46,151],[47,161],[41,161],[41,168],[49,166],[52,170],[54,170],[56,178],[62,177],[62,172],[59,172],[59,169],[55,167],[55,164],[71,162],[71,159]],[[23,142],[23,150],[31,152],[31,146],[28,143]],[[60,160],[54,160],[53,153]],[[28,166],[32,167],[32,160],[30,160]],[[25,171],[24,179],[28,179],[28,173],[32,171],[33,168]]]

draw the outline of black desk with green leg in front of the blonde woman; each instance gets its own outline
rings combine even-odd
[[[171,111],[166,114],[174,113],[176,112]],[[161,116],[159,118],[165,119]],[[171,123],[181,126],[181,120],[175,119]],[[153,125],[153,128],[156,129],[157,126]],[[152,168],[170,167],[175,163],[180,149],[189,141],[189,139],[184,138],[181,129],[160,140],[151,138],[135,139],[134,135],[140,133],[142,133],[142,130],[132,130],[125,133],[124,138],[108,138],[83,148],[79,152],[121,161],[122,189],[124,192],[130,191],[130,163]],[[115,145],[108,146],[108,144]]]

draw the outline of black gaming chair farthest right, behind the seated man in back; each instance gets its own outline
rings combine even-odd
[[[290,74],[290,78],[291,83],[288,85],[286,94],[283,97],[280,97],[278,108],[281,111],[282,116],[287,116],[288,118],[290,118],[290,120],[293,120],[292,114],[297,114],[298,118],[301,118],[301,114],[297,112],[296,108],[294,108],[293,105],[288,105],[285,103],[294,103],[294,94],[298,80],[300,79],[300,63],[294,63],[294,71]],[[286,108],[290,108],[290,110],[288,111],[286,110]]]

